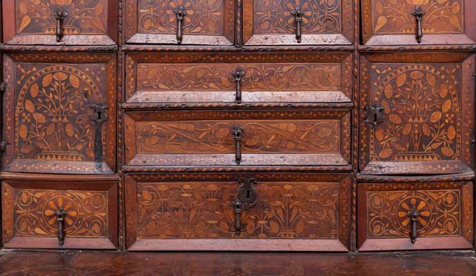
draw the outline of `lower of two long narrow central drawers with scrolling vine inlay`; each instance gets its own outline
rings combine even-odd
[[[124,122],[130,166],[350,163],[348,111],[145,111]]]

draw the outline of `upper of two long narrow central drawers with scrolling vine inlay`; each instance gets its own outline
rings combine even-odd
[[[352,59],[350,54],[130,54],[126,101],[350,103]]]

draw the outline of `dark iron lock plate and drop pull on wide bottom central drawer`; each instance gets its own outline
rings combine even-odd
[[[232,206],[235,207],[235,233],[241,232],[241,211],[254,207],[257,203],[257,193],[255,178],[241,177],[238,179],[238,195]]]

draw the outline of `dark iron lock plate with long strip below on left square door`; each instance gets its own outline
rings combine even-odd
[[[94,110],[90,119],[95,123],[95,169],[101,170],[103,162],[102,124],[109,119],[106,112],[109,107],[104,103],[90,103],[87,91],[84,92],[84,95],[86,104]]]

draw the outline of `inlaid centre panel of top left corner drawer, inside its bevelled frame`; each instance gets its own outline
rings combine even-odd
[[[54,34],[54,12],[63,9],[64,34],[104,34],[106,32],[107,0],[15,0],[17,32],[20,34]]]

